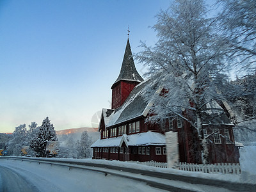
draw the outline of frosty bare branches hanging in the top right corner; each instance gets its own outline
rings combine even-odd
[[[223,35],[230,46],[230,58],[236,59],[239,68],[256,70],[256,1],[220,0]],[[232,60],[234,64],[235,60]]]

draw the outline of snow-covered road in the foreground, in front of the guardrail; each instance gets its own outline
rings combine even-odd
[[[28,161],[0,161],[0,191],[161,191],[144,182]]]

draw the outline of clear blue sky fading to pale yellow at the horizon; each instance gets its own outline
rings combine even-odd
[[[157,42],[168,0],[0,0],[0,132],[20,124],[97,127],[124,57]],[[135,61],[143,76],[147,70]]]

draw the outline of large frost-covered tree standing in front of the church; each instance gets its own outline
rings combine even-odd
[[[227,47],[215,31],[215,20],[206,15],[202,0],[175,1],[157,15],[155,47],[142,43],[144,51],[136,55],[149,67],[147,75],[152,79],[145,94],[145,99],[154,103],[154,115],[148,121],[179,116],[189,122],[200,140],[202,163],[207,163],[209,153],[202,126],[204,114],[213,111],[220,115],[223,110],[217,102],[236,94],[225,76]]]

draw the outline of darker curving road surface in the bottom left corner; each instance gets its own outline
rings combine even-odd
[[[0,191],[32,192],[38,191],[38,189],[15,170],[0,165]]]

